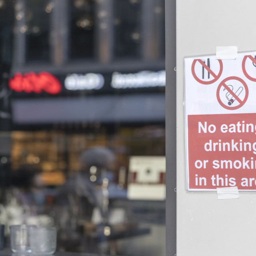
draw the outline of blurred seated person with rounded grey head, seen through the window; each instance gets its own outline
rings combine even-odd
[[[56,194],[59,244],[63,245],[63,250],[98,252],[98,241],[90,240],[86,234],[95,232],[92,216],[96,209],[99,213],[97,226],[108,223],[109,196],[120,191],[114,175],[117,158],[108,148],[93,147],[82,152],[79,164],[78,172],[68,177]],[[102,239],[100,235],[98,232],[97,239]]]

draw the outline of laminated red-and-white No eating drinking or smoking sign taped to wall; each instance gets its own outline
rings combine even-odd
[[[184,58],[188,190],[256,190],[256,52]]]

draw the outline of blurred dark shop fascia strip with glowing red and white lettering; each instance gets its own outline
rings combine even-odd
[[[165,70],[140,72],[130,72],[127,74],[120,72],[100,73],[72,73],[55,74],[40,72],[35,74],[29,72],[21,74],[16,72],[9,80],[9,87],[14,90],[13,97],[26,98],[34,97],[33,92],[48,94],[59,94],[63,96],[80,96],[82,92],[88,92],[90,95],[110,94],[122,90],[128,93],[137,93],[138,91],[164,92],[166,83]],[[63,87],[63,88],[62,88]],[[25,92],[20,94],[20,92]],[[45,97],[45,95],[44,95]]]

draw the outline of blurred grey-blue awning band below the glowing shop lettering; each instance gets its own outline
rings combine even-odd
[[[13,99],[14,124],[163,122],[164,94]]]

